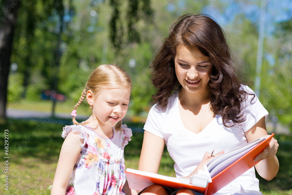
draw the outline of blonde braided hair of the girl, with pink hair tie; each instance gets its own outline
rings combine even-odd
[[[79,101],[75,105],[73,111],[82,103],[82,101],[86,97],[86,93],[88,90],[93,92],[94,98],[96,98],[102,89],[113,89],[117,87],[127,87],[128,89],[132,89],[132,80],[128,73],[116,64],[106,64],[100,65],[91,73],[85,89],[83,90]],[[75,125],[85,125],[89,122],[79,123],[76,121],[75,116],[73,116],[73,123]],[[117,130],[121,130],[120,120],[115,128]]]

